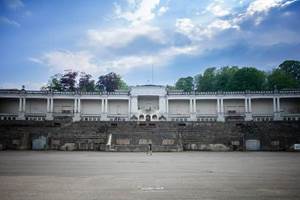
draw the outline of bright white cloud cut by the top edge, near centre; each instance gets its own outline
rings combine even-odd
[[[160,0],[130,0],[128,3],[133,9],[125,12],[118,4],[115,4],[115,14],[117,18],[125,19],[133,25],[144,24],[155,18],[159,2]]]

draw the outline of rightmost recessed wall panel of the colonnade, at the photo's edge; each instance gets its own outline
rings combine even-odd
[[[285,114],[300,113],[300,98],[280,99],[280,110]]]

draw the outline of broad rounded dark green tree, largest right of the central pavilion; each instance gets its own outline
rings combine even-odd
[[[232,77],[229,88],[233,91],[264,90],[266,74],[254,67],[239,69]]]

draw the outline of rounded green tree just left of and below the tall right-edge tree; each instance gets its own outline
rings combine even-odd
[[[293,89],[296,88],[297,85],[297,80],[281,69],[274,69],[268,76],[268,87],[270,90]]]

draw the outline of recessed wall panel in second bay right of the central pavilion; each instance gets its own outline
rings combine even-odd
[[[217,114],[217,100],[197,100],[196,112],[197,114]]]

